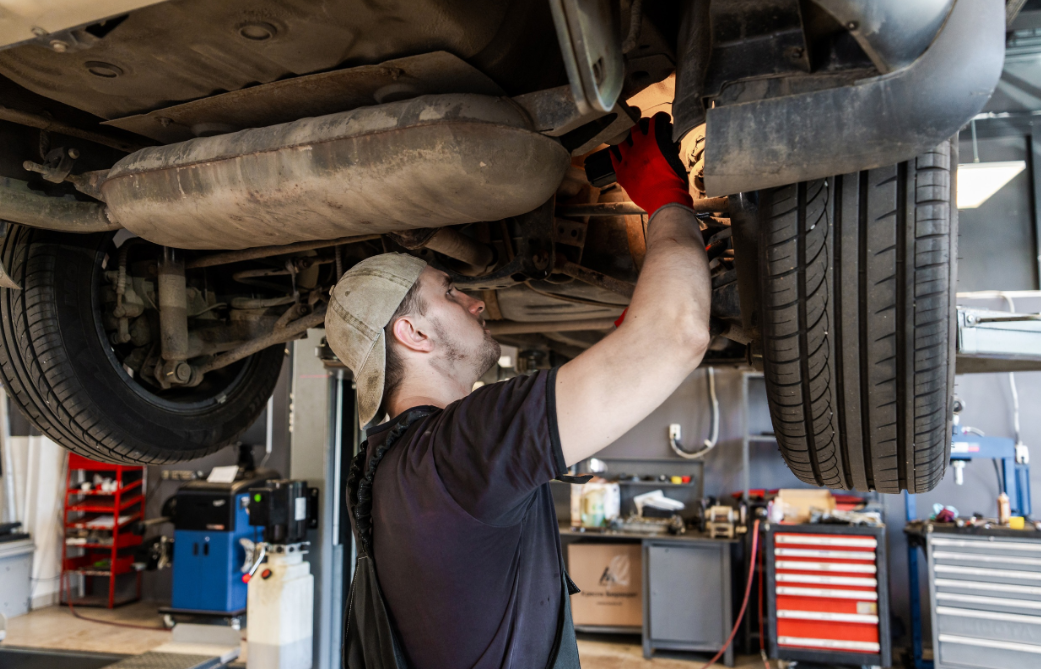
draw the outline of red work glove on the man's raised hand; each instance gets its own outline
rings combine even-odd
[[[640,119],[628,139],[611,147],[611,163],[618,183],[648,215],[667,204],[693,206],[687,173],[672,141],[672,124],[664,111]]]

